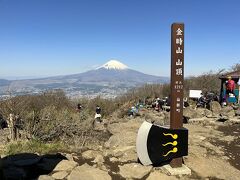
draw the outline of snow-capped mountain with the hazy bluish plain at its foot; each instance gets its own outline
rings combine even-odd
[[[117,60],[110,60],[94,70],[79,74],[13,81],[0,79],[0,95],[6,95],[8,90],[20,95],[63,89],[69,96],[115,97],[142,84],[167,82],[168,77],[147,75]]]

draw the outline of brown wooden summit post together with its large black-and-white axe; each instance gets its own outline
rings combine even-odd
[[[143,122],[138,130],[136,148],[143,165],[169,163],[182,166],[188,155],[188,130],[183,128],[184,25],[172,24],[171,39],[171,108],[169,126]]]

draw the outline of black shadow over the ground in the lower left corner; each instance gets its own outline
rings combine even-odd
[[[61,154],[38,156],[32,153],[21,153],[9,155],[0,160],[0,179],[37,179],[40,175],[51,173],[56,165],[64,159],[67,158]]]

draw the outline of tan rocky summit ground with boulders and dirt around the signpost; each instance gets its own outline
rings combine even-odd
[[[221,111],[222,112],[222,111]],[[144,110],[140,117],[109,120],[112,134],[103,146],[52,155],[2,156],[5,179],[227,179],[240,177],[240,118],[232,111],[185,110],[189,153],[184,163],[191,175],[168,176],[162,167],[137,161],[136,136],[144,120],[169,123],[169,114]],[[231,114],[232,113],[232,114]],[[200,115],[201,114],[201,115]],[[203,115],[204,114],[204,115]],[[101,129],[101,126],[99,127]],[[7,133],[6,130],[4,130]],[[1,132],[3,133],[3,131]],[[4,141],[1,140],[3,147]],[[3,178],[3,177],[2,177]],[[1,179],[1,178],[0,178]]]

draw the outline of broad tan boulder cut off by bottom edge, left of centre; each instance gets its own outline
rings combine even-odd
[[[103,170],[84,164],[76,167],[68,176],[68,180],[111,180],[111,176]]]

